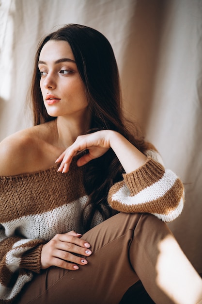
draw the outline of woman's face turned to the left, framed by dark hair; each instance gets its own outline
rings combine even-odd
[[[73,118],[86,114],[88,101],[70,45],[50,40],[39,56],[40,87],[50,116]]]

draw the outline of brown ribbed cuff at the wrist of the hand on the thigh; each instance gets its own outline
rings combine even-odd
[[[21,257],[20,268],[25,268],[36,273],[41,270],[41,250],[44,244],[29,250]]]

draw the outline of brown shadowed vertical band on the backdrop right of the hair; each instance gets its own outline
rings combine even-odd
[[[124,113],[143,134],[152,107],[161,34],[168,0],[137,0],[121,72]],[[131,115],[131,113],[133,113]]]

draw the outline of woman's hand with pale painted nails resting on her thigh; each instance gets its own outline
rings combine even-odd
[[[42,247],[41,268],[57,266],[67,270],[77,270],[78,265],[86,265],[87,260],[75,254],[90,256],[91,245],[80,237],[81,235],[74,231],[54,236]]]

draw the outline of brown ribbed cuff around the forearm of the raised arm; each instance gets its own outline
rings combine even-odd
[[[164,172],[165,169],[162,165],[148,157],[144,165],[133,172],[123,174],[123,178],[131,195],[136,195],[161,179]]]

